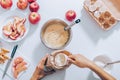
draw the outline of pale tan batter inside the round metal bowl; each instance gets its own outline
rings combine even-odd
[[[64,30],[64,25],[60,23],[49,25],[43,35],[43,39],[51,48],[60,48],[69,40],[69,31]]]

